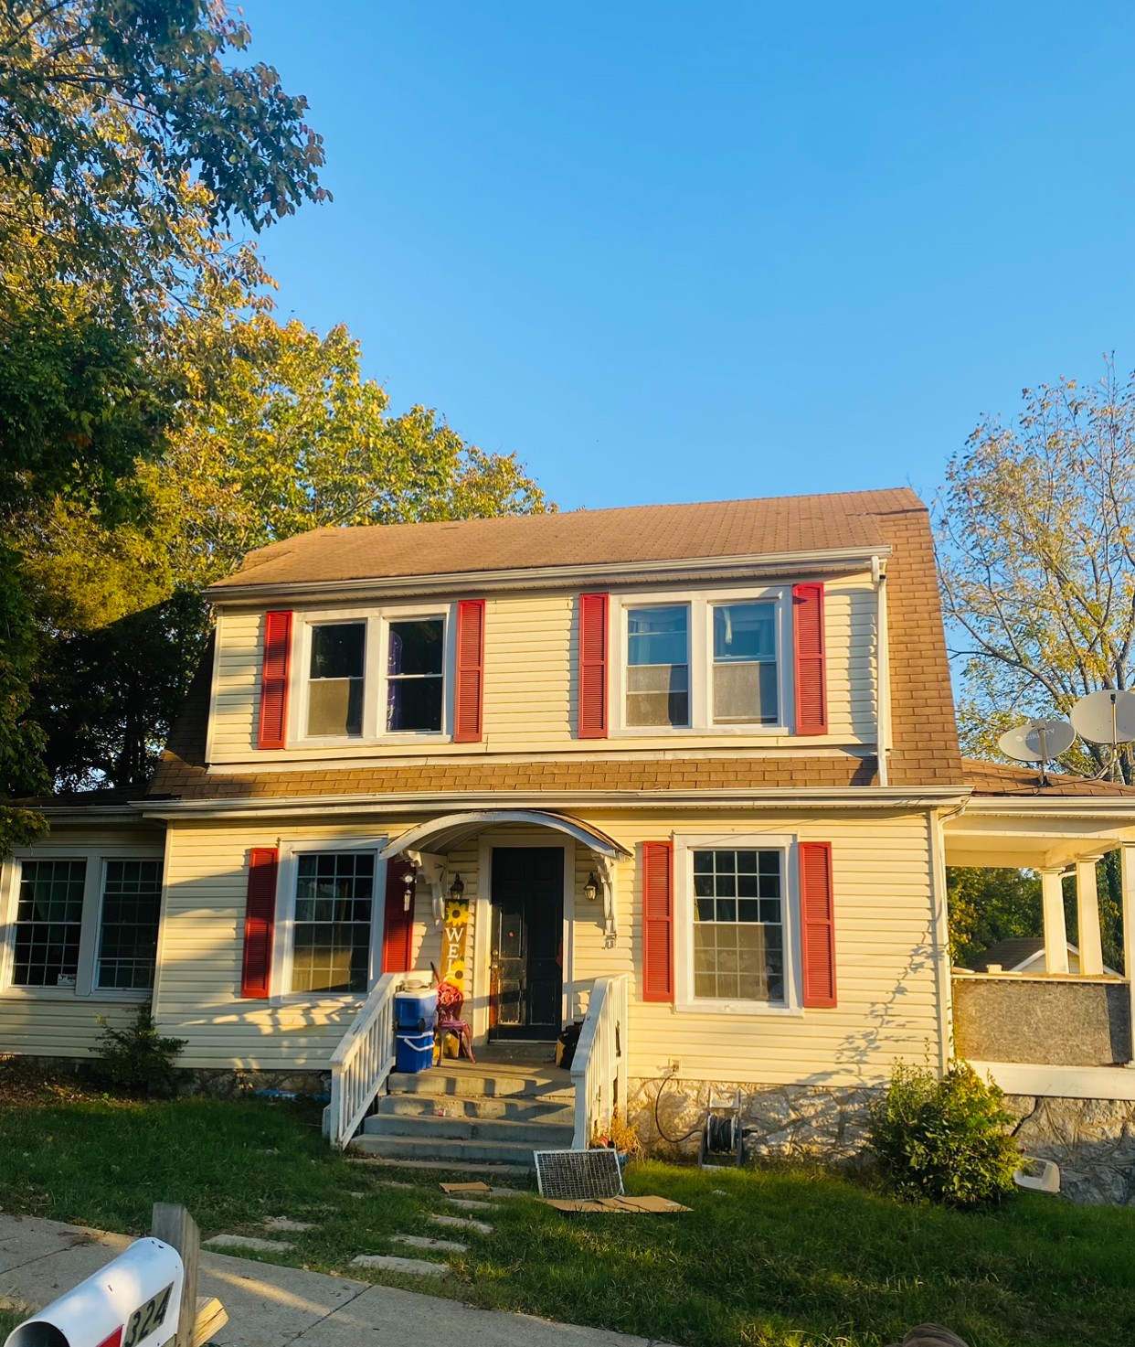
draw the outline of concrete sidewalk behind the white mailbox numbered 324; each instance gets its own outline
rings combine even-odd
[[[81,1226],[0,1214],[0,1301],[42,1308],[131,1243]],[[218,1347],[664,1347],[600,1328],[474,1309],[456,1300],[372,1286],[298,1268],[202,1253],[203,1296],[217,1296],[229,1323]]]

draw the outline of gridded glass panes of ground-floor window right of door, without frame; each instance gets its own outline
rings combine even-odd
[[[693,853],[693,995],[784,1001],[780,851]]]

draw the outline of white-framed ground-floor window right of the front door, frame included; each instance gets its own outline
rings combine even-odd
[[[675,838],[679,1010],[800,1012],[796,838]]]

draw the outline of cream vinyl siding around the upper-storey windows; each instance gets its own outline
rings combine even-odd
[[[706,590],[704,593],[712,593]],[[576,735],[576,595],[536,594],[490,598],[485,606],[485,714],[478,744],[423,741],[353,744],[342,748],[256,750],[264,618],[257,612],[222,612],[218,620],[215,706],[210,761],[271,765],[384,760],[428,754],[529,754],[739,749],[782,752],[832,745],[872,745],[875,738],[876,599],[868,575],[825,587],[828,657],[827,735],[669,734],[580,740]],[[615,647],[617,649],[617,647]],[[614,652],[613,652],[614,653]],[[781,652],[790,659],[790,649]],[[294,678],[296,671],[294,668]],[[614,680],[611,683],[614,691]],[[614,709],[615,711],[618,709]]]

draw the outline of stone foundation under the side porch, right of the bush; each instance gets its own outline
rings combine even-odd
[[[1060,1165],[1060,1191],[1074,1203],[1135,1207],[1135,1102],[1008,1095],[1029,1156]]]

